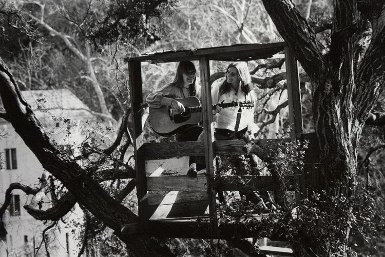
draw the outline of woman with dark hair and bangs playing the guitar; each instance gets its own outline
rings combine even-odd
[[[171,83],[164,85],[159,91],[150,93],[146,102],[151,108],[161,108],[162,106],[171,106],[180,113],[185,112],[185,108],[176,98],[185,98],[188,96],[201,97],[200,85],[197,85],[197,70],[190,61],[182,61],[178,64],[177,72]],[[185,125],[183,131],[176,134],[175,139],[178,142],[197,141],[202,133],[203,127],[198,125]],[[197,176],[197,164],[195,156],[190,156],[187,175]]]

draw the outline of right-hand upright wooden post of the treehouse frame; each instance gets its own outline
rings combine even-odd
[[[292,125],[292,140],[301,139],[303,133],[302,103],[299,84],[297,60],[292,51],[285,46],[286,84],[289,107],[290,124]],[[304,174],[298,174],[299,193],[296,192],[296,200],[307,197]]]

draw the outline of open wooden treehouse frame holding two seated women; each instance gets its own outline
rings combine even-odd
[[[272,58],[279,54],[285,60],[288,113],[291,123],[291,137],[284,140],[310,140],[312,134],[303,134],[301,95],[298,65],[292,52],[284,43],[247,44],[197,50],[169,51],[126,58],[129,70],[131,107],[133,113],[133,141],[137,175],[137,196],[139,205],[138,224],[122,225],[122,233],[148,233],[170,238],[228,239],[234,235],[251,237],[246,224],[221,223],[217,215],[218,177],[216,177],[216,155],[232,152],[245,154],[242,140],[215,141],[213,115],[211,114],[210,61],[251,61]],[[142,66],[163,63],[195,61],[199,63],[202,87],[202,124],[204,140],[198,142],[146,143],[142,124],[144,105]],[[261,145],[279,142],[279,139],[260,140]],[[316,152],[313,146],[306,152],[305,168],[293,176],[297,185],[296,197],[306,197],[306,189],[315,185],[316,175],[312,164]],[[160,175],[172,171],[172,158],[182,160],[183,156],[205,156],[206,170],[191,178],[186,175]],[[168,166],[167,166],[168,165]],[[166,167],[167,166],[167,167]],[[187,171],[187,166],[185,171]],[[172,172],[171,172],[172,173]],[[231,177],[220,180],[224,191],[239,191],[241,185],[233,183]],[[217,182],[217,183],[216,183]],[[249,185],[255,190],[272,191],[271,176],[255,176]]]

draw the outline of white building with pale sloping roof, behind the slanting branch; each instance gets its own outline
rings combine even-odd
[[[88,107],[67,89],[22,91],[22,94],[37,118],[59,144],[81,142],[82,124],[86,120],[90,123],[96,120]],[[67,133],[67,126],[72,127],[71,134]],[[42,177],[44,172],[40,162],[16,134],[12,125],[0,119],[0,135],[4,134],[5,136],[0,138],[0,152],[4,161],[0,170],[0,206],[4,203],[5,192],[11,183],[38,187],[38,178]],[[7,236],[6,242],[0,242],[0,257],[34,256],[40,246],[42,231],[51,223],[36,221],[27,213],[23,206],[30,204],[31,199],[32,196],[26,195],[22,190],[12,191],[11,206],[3,216]],[[49,195],[44,195],[42,200],[42,209],[51,207]],[[69,219],[82,223],[82,212],[77,205],[68,216]],[[57,226],[47,231],[46,240],[50,242],[51,256],[77,256],[79,246],[71,228],[67,226],[68,223],[60,221]],[[46,256],[44,243],[38,250],[38,256]]]

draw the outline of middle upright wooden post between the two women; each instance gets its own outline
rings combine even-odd
[[[215,170],[215,152],[214,152],[214,122],[213,108],[211,107],[211,87],[210,87],[210,63],[206,56],[199,58],[199,67],[201,75],[202,87],[202,117],[203,117],[203,133],[206,159],[207,174],[207,196],[208,208],[210,211],[211,233],[217,234],[218,222],[216,212],[216,191],[213,188],[214,170]]]

